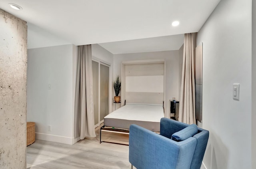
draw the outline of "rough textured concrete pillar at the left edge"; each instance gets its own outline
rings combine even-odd
[[[0,168],[26,169],[26,22],[0,9]]]

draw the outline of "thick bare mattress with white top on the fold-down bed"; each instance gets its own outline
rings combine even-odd
[[[131,124],[137,124],[159,132],[162,117],[164,117],[162,105],[127,104],[104,117],[104,125],[129,129]]]

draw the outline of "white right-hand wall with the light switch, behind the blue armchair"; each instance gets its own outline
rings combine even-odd
[[[202,127],[207,169],[251,168],[252,1],[222,0],[198,33],[203,42]],[[232,84],[240,84],[239,101]]]

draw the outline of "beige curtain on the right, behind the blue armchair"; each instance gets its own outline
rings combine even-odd
[[[196,34],[184,35],[183,66],[180,86],[179,121],[196,123],[194,39]]]

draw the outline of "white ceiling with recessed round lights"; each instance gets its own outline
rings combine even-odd
[[[220,0],[1,0],[0,8],[28,22],[28,48],[100,44],[117,54],[168,49],[164,46],[166,42],[172,46],[172,43],[183,39],[178,34],[198,32],[219,2]],[[14,10],[8,3],[18,4],[23,10]],[[180,25],[172,27],[174,20],[179,20]],[[146,39],[136,40],[143,38]],[[177,44],[172,49],[177,50],[180,46]]]

